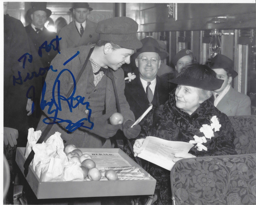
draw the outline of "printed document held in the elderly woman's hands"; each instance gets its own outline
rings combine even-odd
[[[138,157],[171,171],[175,164],[172,161],[174,155],[177,153],[187,154],[193,146],[194,144],[188,142],[168,141],[148,136],[141,146],[143,150]]]

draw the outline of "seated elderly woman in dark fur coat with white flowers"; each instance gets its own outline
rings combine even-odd
[[[221,88],[223,80],[217,79],[215,72],[207,65],[191,64],[170,82],[176,83],[177,87],[165,104],[146,116],[141,125],[143,133],[139,136],[142,139],[134,142],[134,156],[141,153],[140,147],[146,136],[199,142],[188,154],[176,154],[174,162],[181,158],[237,154],[231,122],[209,99],[212,90]],[[170,171],[149,162],[143,167],[157,180],[157,204],[171,204]]]

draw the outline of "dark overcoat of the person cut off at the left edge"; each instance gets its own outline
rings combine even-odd
[[[23,68],[23,59],[18,61],[25,53],[30,53],[28,37],[24,26],[20,20],[11,16],[4,15],[4,127],[10,127],[18,130],[18,146],[26,146],[28,136],[28,119],[27,119],[27,101],[26,93],[31,80],[20,84],[16,80],[13,84],[13,76],[18,78],[18,72],[24,80],[27,73],[33,72],[33,64],[26,63]]]

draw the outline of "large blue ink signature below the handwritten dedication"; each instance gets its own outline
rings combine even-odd
[[[60,80],[59,80],[59,78],[60,78],[60,76],[63,72],[69,72],[70,75],[72,76],[72,79],[73,79],[73,82],[74,82],[73,92],[72,92],[71,96],[68,97],[68,98],[66,98],[65,96],[60,95]],[[55,99],[56,86],[57,86],[57,93],[58,93],[57,100]],[[90,121],[91,109],[89,109],[89,102],[84,102],[85,97],[82,97],[82,96],[79,96],[79,95],[74,97],[74,94],[75,94],[75,91],[76,91],[76,82],[75,82],[74,75],[72,74],[72,72],[69,69],[63,69],[58,74],[58,76],[57,76],[57,78],[54,82],[54,85],[53,85],[52,99],[49,102],[44,100],[45,91],[46,91],[46,83],[44,83],[44,85],[43,85],[42,99],[41,99],[40,107],[41,107],[42,110],[44,110],[46,106],[49,106],[47,113],[48,114],[54,113],[54,117],[46,117],[45,119],[43,119],[43,122],[45,124],[57,124],[57,123],[66,122],[66,123],[68,123],[68,126],[65,128],[65,129],[68,130],[67,133],[73,132],[79,127],[85,127],[85,128],[88,128],[88,129],[93,129],[94,123]],[[72,108],[76,108],[79,104],[86,105],[86,109],[89,111],[88,119],[83,118],[83,119],[77,121],[76,123],[72,123],[71,120],[62,120],[62,119],[58,118],[57,117],[58,111],[62,110],[61,109],[61,100],[66,101],[68,103],[70,112],[72,112]],[[75,105],[73,105],[74,101],[77,101],[77,103]],[[53,109],[53,106],[55,106],[56,108]],[[52,119],[53,122],[46,122],[46,120],[49,119],[49,118]],[[87,121],[87,120],[88,120],[89,123],[91,123],[90,127],[83,126],[84,125],[83,121]]]

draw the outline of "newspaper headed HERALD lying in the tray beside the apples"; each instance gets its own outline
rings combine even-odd
[[[91,156],[96,164],[96,168],[104,169],[105,167],[130,167],[128,161],[121,157],[118,153],[109,152],[83,152]]]

